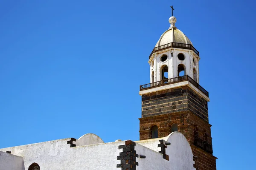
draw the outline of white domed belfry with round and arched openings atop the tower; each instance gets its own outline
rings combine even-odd
[[[185,75],[199,82],[199,51],[175,26],[176,21],[176,17],[169,18],[169,29],[161,35],[149,56],[151,83]]]

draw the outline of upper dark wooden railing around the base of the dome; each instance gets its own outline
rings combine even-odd
[[[165,50],[165,49],[168,49],[168,48],[183,48],[183,49],[189,49],[189,50],[192,50],[195,52],[195,54],[198,55],[199,57],[199,51],[197,51],[193,45],[191,44],[183,44],[183,43],[177,43],[177,42],[170,42],[168,44],[164,44],[164,45],[160,45],[158,47],[155,47],[153,49],[153,51],[151,52],[149,58],[152,56],[153,53],[157,52],[157,51],[161,51],[161,50]]]

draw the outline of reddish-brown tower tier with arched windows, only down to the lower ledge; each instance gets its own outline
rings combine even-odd
[[[151,139],[151,127],[157,125],[158,137],[168,136],[171,126],[177,123],[178,131],[186,136],[190,144],[194,144],[195,127],[198,129],[198,137],[212,144],[211,125],[196,116],[192,111],[181,111],[156,116],[140,118],[140,140]]]

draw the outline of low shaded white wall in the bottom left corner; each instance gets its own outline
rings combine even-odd
[[[0,151],[0,170],[25,170],[23,157]]]

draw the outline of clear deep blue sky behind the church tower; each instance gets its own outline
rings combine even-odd
[[[139,85],[171,5],[200,51],[217,169],[256,169],[250,0],[1,0],[0,148],[85,133],[138,140]]]

